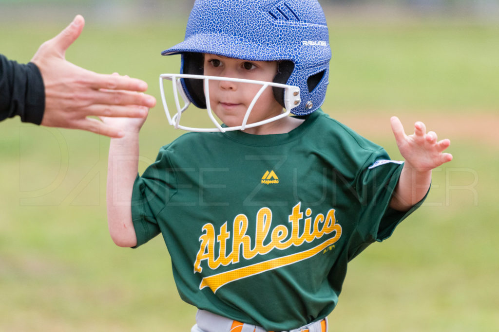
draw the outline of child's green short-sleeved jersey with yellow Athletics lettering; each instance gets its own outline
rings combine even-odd
[[[182,135],[137,177],[141,245],[162,233],[182,299],[267,331],[326,317],[347,263],[407,215],[401,162],[321,110],[285,134]]]

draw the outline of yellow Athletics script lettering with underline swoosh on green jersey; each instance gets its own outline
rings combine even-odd
[[[318,253],[326,252],[326,249],[332,250],[333,244],[341,237],[341,225],[336,222],[334,213],[335,210],[331,209],[325,216],[319,213],[312,218],[312,210],[308,208],[305,210],[306,218],[300,229],[300,221],[303,219],[300,202],[293,207],[291,215],[288,216],[291,230],[283,224],[270,229],[272,211],[269,208],[261,208],[256,214],[256,232],[253,236],[247,234],[249,221],[248,217],[243,214],[234,218],[232,233],[227,230],[227,221],[217,230],[212,223],[206,223],[202,228],[203,234],[199,237],[201,245],[196,255],[194,273],[203,271],[201,267],[203,261],[211,270],[216,270],[221,265],[229,266],[239,263],[241,258],[250,260],[257,255],[266,255],[270,251],[284,250],[291,246],[299,247],[305,242],[311,243],[326,234],[334,233],[334,236],[328,236],[326,240],[318,241],[316,246],[304,251],[204,277],[199,288],[209,287],[215,293],[220,287],[235,280],[294,264]],[[217,246],[215,246],[216,242],[219,243]],[[227,249],[232,249],[229,254],[227,254]]]

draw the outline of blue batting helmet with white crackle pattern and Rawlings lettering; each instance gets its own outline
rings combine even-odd
[[[294,68],[284,83],[300,89],[301,103],[291,112],[309,114],[325,99],[331,48],[324,12],[316,0],[197,0],[185,40],[162,52],[211,53],[250,61],[289,60]],[[187,97],[197,105],[183,83]]]

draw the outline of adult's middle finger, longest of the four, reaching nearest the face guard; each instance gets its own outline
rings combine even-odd
[[[131,91],[94,91],[88,100],[90,104],[103,105],[137,105],[148,108],[153,108],[156,105],[156,99],[153,96]]]

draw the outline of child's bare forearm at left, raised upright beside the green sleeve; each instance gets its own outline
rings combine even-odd
[[[111,139],[107,173],[107,220],[111,238],[122,247],[137,244],[131,201],[138,163],[138,133]]]

